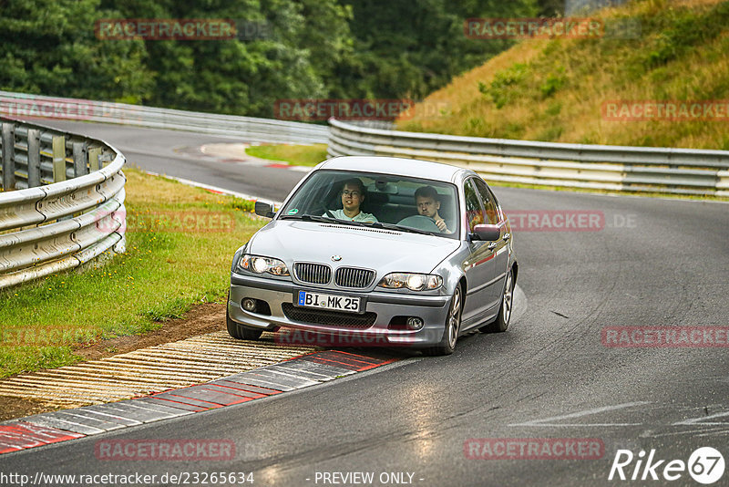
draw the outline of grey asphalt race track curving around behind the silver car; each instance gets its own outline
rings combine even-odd
[[[101,137],[149,171],[272,199],[281,200],[303,175],[175,151],[225,141],[210,136],[46,124]],[[515,232],[527,299],[507,333],[462,337],[449,357],[404,355],[385,368],[277,397],[5,454],[0,472],[159,479],[166,472],[252,471],[255,485],[397,484],[380,482],[389,472],[410,473],[404,480],[423,486],[700,485],[687,471],[674,482],[662,471],[699,447],[729,461],[728,348],[606,347],[601,337],[606,326],[729,325],[729,205],[495,192],[512,211],[604,215],[604,225],[590,231]],[[604,451],[596,460],[467,458],[467,441],[484,438],[595,439]],[[236,457],[99,461],[94,447],[102,439],[225,439],[236,445]],[[660,480],[608,481],[619,449],[636,460],[639,451],[655,450],[655,461],[664,460]],[[636,460],[624,469],[628,479]],[[324,472],[374,472],[374,482],[323,482]],[[729,471],[715,485],[727,479]]]

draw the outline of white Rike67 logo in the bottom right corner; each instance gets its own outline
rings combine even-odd
[[[724,476],[724,467],[724,457],[711,447],[696,449],[687,462],[658,460],[655,458],[655,450],[651,450],[648,458],[645,458],[643,450],[638,455],[633,455],[630,450],[618,450],[615,452],[608,480],[677,481],[684,478],[688,471],[694,481],[709,485]]]

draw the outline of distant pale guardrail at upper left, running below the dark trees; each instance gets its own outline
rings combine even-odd
[[[124,103],[53,98],[0,91],[0,115],[18,118],[74,119],[149,129],[229,135],[248,142],[326,143],[329,129],[287,120],[158,109]]]

